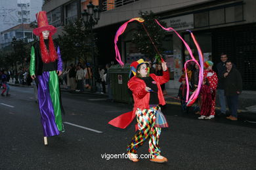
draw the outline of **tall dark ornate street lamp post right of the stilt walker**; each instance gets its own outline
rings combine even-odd
[[[98,6],[93,5],[93,2],[90,1],[89,5],[87,5],[87,10],[83,10],[82,12],[83,21],[85,26],[88,25],[91,30],[91,57],[93,59],[93,82],[92,82],[92,92],[96,92],[96,61],[94,54],[94,36],[93,36],[93,27],[98,24],[98,20],[100,20],[100,11],[98,10]],[[85,29],[86,31],[86,29]]]

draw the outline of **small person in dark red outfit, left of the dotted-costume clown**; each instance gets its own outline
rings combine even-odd
[[[201,116],[198,119],[205,119],[211,114],[211,88],[207,78],[203,78],[203,85],[200,90],[201,95]]]

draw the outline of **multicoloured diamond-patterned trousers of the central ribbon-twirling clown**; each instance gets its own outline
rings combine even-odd
[[[158,146],[161,127],[154,127],[156,122],[156,107],[151,107],[150,109],[136,111],[137,122],[139,131],[135,134],[131,140],[131,144],[127,146],[127,152],[133,154],[137,153],[139,146],[141,146],[148,137],[149,148],[148,151],[154,156],[154,158],[160,155],[160,147]]]

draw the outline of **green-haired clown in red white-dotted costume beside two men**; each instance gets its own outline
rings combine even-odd
[[[215,116],[215,99],[216,99],[216,89],[218,85],[218,77],[215,71],[213,71],[213,62],[212,61],[205,61],[204,63],[204,71],[203,71],[203,78],[207,78],[209,82],[209,87],[211,89],[211,114],[210,116],[205,117],[205,119],[211,119]]]

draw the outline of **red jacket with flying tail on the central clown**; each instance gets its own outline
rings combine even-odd
[[[163,97],[163,92],[161,91],[161,84],[164,84],[169,81],[169,71],[163,71],[163,76],[156,76],[155,74],[150,74],[150,76],[155,80],[158,86],[158,100],[160,105],[165,105],[165,99]],[[128,82],[128,88],[133,92],[133,100],[135,101],[133,111],[126,112],[117,116],[113,120],[110,120],[108,124],[112,126],[116,126],[122,129],[129,126],[133,119],[135,118],[135,112],[137,108],[139,109],[149,109],[149,100],[150,100],[150,93],[146,92],[146,83],[144,80],[137,78],[134,76]]]

